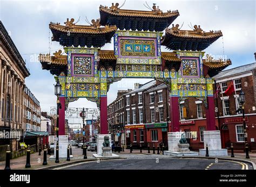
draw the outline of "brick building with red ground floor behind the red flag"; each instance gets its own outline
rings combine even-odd
[[[256,61],[256,60],[255,60]],[[221,71],[214,76],[216,87],[220,86],[219,97],[216,102],[217,117],[221,132],[221,143],[224,148],[233,143],[234,149],[244,149],[244,126],[242,112],[239,109],[239,93],[245,93],[245,120],[247,140],[251,150],[256,150],[256,62],[233,69]],[[224,92],[233,83],[234,91],[227,96]],[[217,112],[216,112],[217,114]]]

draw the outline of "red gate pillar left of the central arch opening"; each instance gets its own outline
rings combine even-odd
[[[100,134],[107,133],[107,96],[100,97]]]

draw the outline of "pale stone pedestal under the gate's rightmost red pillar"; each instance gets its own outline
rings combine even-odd
[[[206,154],[206,144],[209,156],[227,156],[227,149],[221,148],[220,131],[204,131],[204,149],[199,149],[199,155]]]

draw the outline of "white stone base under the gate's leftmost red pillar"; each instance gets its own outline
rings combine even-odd
[[[56,143],[57,136],[54,137],[54,156],[56,156]],[[69,145],[69,137],[68,135],[59,135],[59,158],[66,158],[67,151]]]

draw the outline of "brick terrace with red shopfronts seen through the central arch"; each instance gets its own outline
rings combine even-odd
[[[169,91],[158,81],[134,84],[134,90],[119,90],[108,106],[109,133],[116,144],[146,147],[163,141],[170,128]]]

